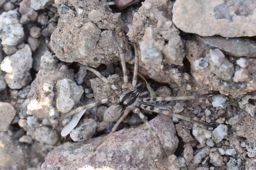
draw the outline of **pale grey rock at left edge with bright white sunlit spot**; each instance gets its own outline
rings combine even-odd
[[[4,80],[12,89],[20,89],[31,81],[32,52],[28,45],[11,56],[6,56],[0,64],[1,70],[7,72]]]

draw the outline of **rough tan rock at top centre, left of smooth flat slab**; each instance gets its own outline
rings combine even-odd
[[[134,14],[128,36],[138,44],[139,65],[150,72],[150,77],[159,81],[158,73],[174,74],[163,69],[165,64],[183,65],[184,51],[179,31],[173,25],[173,2],[168,0],[146,0]],[[164,78],[163,78],[164,79]],[[170,78],[169,78],[170,79]]]

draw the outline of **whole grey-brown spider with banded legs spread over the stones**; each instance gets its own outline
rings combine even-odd
[[[140,92],[138,90],[138,87],[140,86],[140,84],[137,84],[137,76],[141,77],[141,75],[138,73],[137,48],[134,45],[135,64],[134,64],[134,71],[133,71],[133,79],[132,79],[132,83],[128,83],[128,76],[127,76],[126,64],[125,64],[125,60],[124,60],[124,53],[118,44],[117,36],[114,33],[113,33],[113,35],[115,38],[115,43],[118,48],[118,52],[119,52],[119,56],[120,56],[120,60],[121,60],[124,85],[122,85],[121,95],[119,95],[118,102],[114,105],[111,105],[110,107],[108,107],[106,109],[103,119],[104,119],[104,121],[107,121],[107,122],[114,122],[118,118],[119,119],[117,120],[117,123],[115,124],[115,126],[112,128],[111,132],[103,138],[103,140],[95,147],[94,150],[96,150],[105,140],[107,140],[111,136],[112,133],[116,132],[118,125],[123,121],[123,119],[125,119],[125,117],[131,111],[133,111],[134,113],[138,114],[139,118],[146,124],[146,126],[150,130],[151,134],[153,134],[153,136],[157,138],[159,146],[164,151],[163,145],[161,144],[157,133],[155,132],[155,130],[153,129],[151,124],[148,122],[146,116],[144,116],[144,114],[141,113],[140,109],[156,112],[158,114],[169,115],[169,116],[177,117],[179,119],[184,119],[184,120],[191,121],[194,123],[199,123],[202,125],[209,126],[209,124],[207,124],[203,121],[199,121],[199,120],[195,120],[195,119],[187,118],[187,117],[184,117],[184,116],[181,116],[178,114],[171,113],[170,110],[168,110],[166,108],[155,106],[152,103],[153,102],[162,102],[162,101],[168,102],[168,101],[173,101],[173,100],[192,100],[192,99],[196,99],[198,97],[210,96],[211,94],[181,96],[181,97],[171,97],[171,96],[170,97],[156,97],[154,94],[154,91],[147,84],[146,81],[145,82],[146,82],[148,91]],[[98,78],[100,78],[104,83],[111,85],[110,82],[104,76],[102,76],[96,69],[90,68],[90,67],[86,67],[86,69],[93,72],[95,75],[97,75]],[[142,77],[142,79],[144,79],[144,78]],[[111,88],[113,90],[116,90],[117,92],[118,92],[118,90],[120,91],[120,89],[118,89],[118,87],[116,85],[111,85]],[[148,94],[150,94],[150,97],[144,97]],[[94,106],[104,104],[104,103],[108,102],[109,100],[110,99],[108,99],[108,98],[101,99],[98,102],[94,102],[94,103],[90,103],[90,104],[78,107],[77,109],[75,109],[75,110],[71,111],[70,113],[68,113],[67,115],[65,115],[64,117],[68,117],[71,115],[74,115],[74,116],[73,116],[72,120],[68,123],[68,125],[66,125],[62,129],[61,136],[68,135],[71,132],[71,130],[76,127],[76,125],[79,122],[79,119],[82,117],[82,115],[86,111],[86,109],[90,109]],[[121,116],[121,114],[122,114],[122,116]]]

